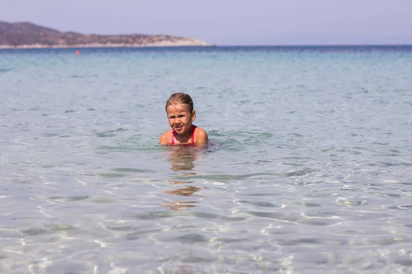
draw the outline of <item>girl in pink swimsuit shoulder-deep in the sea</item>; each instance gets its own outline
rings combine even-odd
[[[165,110],[172,129],[160,136],[160,145],[204,145],[209,142],[205,130],[193,125],[196,112],[189,95],[181,92],[170,95]]]

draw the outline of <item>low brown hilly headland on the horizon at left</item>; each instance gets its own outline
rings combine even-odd
[[[161,47],[209,46],[190,37],[170,35],[99,35],[77,32],[59,32],[33,23],[0,21],[0,48],[41,47]]]

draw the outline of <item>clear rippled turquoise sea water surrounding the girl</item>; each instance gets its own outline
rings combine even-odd
[[[0,51],[0,273],[408,273],[412,47]],[[163,148],[192,95],[211,145]]]

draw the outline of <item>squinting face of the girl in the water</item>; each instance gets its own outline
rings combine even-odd
[[[180,103],[169,105],[168,108],[166,108],[166,113],[168,114],[169,125],[174,132],[179,135],[185,135],[191,132],[192,122],[196,117],[196,112],[193,111],[191,113],[187,105]]]

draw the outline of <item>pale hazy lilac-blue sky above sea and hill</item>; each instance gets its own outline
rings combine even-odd
[[[0,21],[216,45],[412,44],[412,0],[0,0]]]

